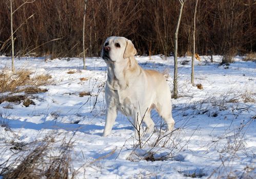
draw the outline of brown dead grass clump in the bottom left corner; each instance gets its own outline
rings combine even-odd
[[[37,144],[28,154],[20,154],[11,164],[10,159],[0,164],[4,178],[68,178],[72,142],[66,140],[58,147],[50,142]],[[19,148],[18,148],[19,149]],[[54,152],[53,152],[54,149]],[[57,150],[57,151],[56,151]],[[21,151],[25,152],[26,151]],[[53,154],[55,153],[55,154]],[[72,174],[72,173],[71,173]],[[71,178],[74,176],[72,175]]]

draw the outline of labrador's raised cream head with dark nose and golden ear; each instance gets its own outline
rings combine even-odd
[[[125,37],[108,37],[103,44],[101,57],[105,62],[121,62],[136,53],[131,40]]]

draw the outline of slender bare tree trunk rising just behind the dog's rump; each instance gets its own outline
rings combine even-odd
[[[179,27],[181,23],[181,16],[183,11],[183,5],[184,2],[180,1],[181,3],[181,9],[180,9],[180,15],[178,19],[178,24],[175,30],[174,34],[174,40],[175,40],[175,46],[174,46],[174,77],[173,77],[173,98],[178,98],[178,33],[179,33]]]

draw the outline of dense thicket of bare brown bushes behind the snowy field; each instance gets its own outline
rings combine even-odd
[[[12,2],[14,10],[24,3]],[[10,54],[8,4],[8,0],[0,2],[0,54],[7,55]],[[193,6],[194,1],[187,1],[184,6],[179,32],[180,55],[192,51]],[[133,40],[141,55],[170,55],[179,7],[179,1],[167,0],[89,0],[85,20],[87,56],[98,56],[102,43],[112,35]],[[41,0],[25,4],[13,15],[14,31],[23,24],[14,34],[16,56],[28,52],[52,58],[81,56],[83,13],[84,0]],[[199,1],[196,24],[199,54],[211,52],[228,57],[256,51],[253,0]],[[60,39],[51,41],[56,38]]]

